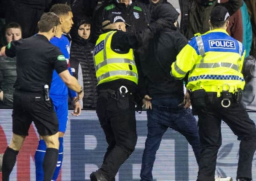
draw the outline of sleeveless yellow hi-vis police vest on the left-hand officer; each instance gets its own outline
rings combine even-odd
[[[98,85],[120,78],[138,84],[138,72],[133,50],[128,53],[116,53],[111,49],[112,36],[116,31],[101,34],[96,42],[93,59]]]

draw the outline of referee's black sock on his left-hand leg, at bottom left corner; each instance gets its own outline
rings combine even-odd
[[[9,176],[15,165],[17,154],[19,151],[13,150],[7,147],[3,154],[3,166],[2,166],[2,180],[9,181]]]

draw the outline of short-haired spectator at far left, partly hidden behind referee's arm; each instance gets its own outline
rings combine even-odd
[[[21,27],[16,22],[6,26],[6,41],[22,38]],[[0,57],[0,109],[12,109],[14,83],[17,79],[16,57]]]

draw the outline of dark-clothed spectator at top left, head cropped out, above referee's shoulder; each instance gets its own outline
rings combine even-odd
[[[35,35],[38,32],[37,22],[47,6],[48,0],[8,0],[6,24],[19,23],[23,38]]]

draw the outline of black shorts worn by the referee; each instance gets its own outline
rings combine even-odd
[[[14,92],[12,131],[27,136],[29,127],[35,123],[41,136],[53,135],[59,131],[59,123],[52,101],[45,101],[41,94]]]

